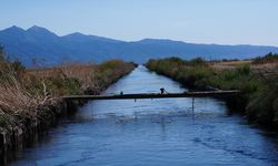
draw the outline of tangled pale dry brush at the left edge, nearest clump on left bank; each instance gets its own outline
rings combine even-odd
[[[12,63],[0,64],[0,112],[9,114],[31,113],[36,106],[51,100],[47,95],[32,94],[26,89],[27,75]],[[33,113],[31,113],[33,114]]]

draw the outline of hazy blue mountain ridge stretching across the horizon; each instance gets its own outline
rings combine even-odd
[[[27,30],[13,25],[0,31],[0,44],[12,59],[27,65],[31,65],[34,59],[48,65],[63,61],[102,62],[109,59],[142,63],[148,59],[171,55],[182,59],[248,59],[278,52],[276,46],[195,44],[161,39],[126,42],[79,32],[59,37],[37,25]]]

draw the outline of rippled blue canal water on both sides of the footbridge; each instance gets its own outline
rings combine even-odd
[[[106,93],[183,92],[139,66]],[[228,114],[224,102],[197,98],[93,101],[11,165],[278,165],[277,135]]]

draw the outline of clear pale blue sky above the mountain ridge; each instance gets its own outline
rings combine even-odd
[[[278,46],[278,0],[0,0],[0,29]]]

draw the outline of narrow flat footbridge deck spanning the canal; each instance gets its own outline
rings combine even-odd
[[[206,92],[185,92],[185,93],[138,93],[138,94],[116,94],[116,95],[70,95],[63,96],[64,100],[137,100],[137,98],[173,98],[173,97],[206,97],[236,95],[239,91],[206,91]]]

